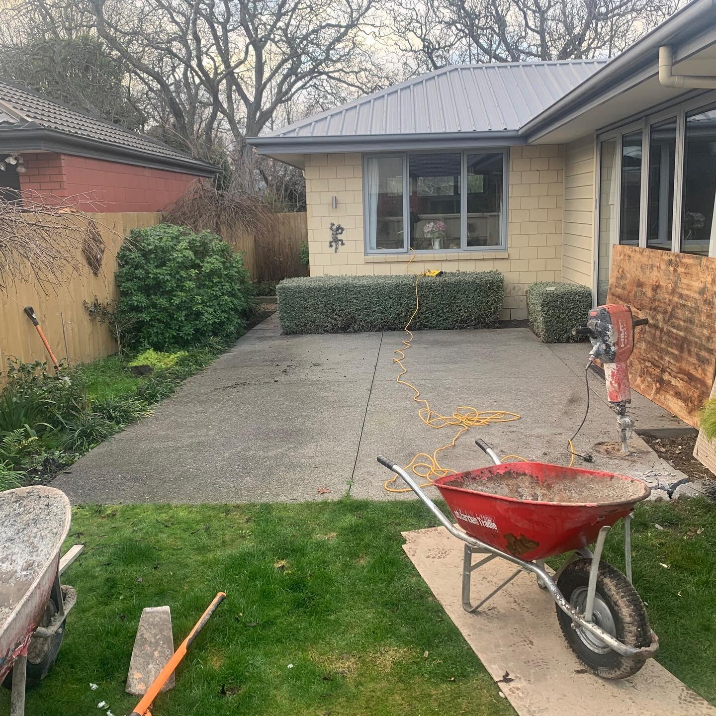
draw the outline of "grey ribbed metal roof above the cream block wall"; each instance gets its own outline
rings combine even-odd
[[[445,67],[309,117],[267,137],[519,130],[605,60]]]

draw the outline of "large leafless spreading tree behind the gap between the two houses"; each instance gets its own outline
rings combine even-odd
[[[374,0],[84,0],[99,36],[203,153],[225,127],[246,137],[322,82],[364,89],[360,29]],[[245,178],[246,183],[253,179]]]

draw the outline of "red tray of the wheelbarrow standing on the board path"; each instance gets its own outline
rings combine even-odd
[[[468,535],[523,561],[586,547],[650,491],[627,475],[526,462],[445,475],[433,484]]]

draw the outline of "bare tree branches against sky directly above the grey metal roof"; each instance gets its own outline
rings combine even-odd
[[[683,0],[399,0],[396,27],[417,69],[614,57]],[[399,41],[400,42],[400,41]]]

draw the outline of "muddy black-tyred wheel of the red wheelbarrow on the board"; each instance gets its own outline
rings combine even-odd
[[[562,572],[557,586],[578,611],[584,611],[589,587],[591,559],[578,559]],[[604,679],[626,679],[644,666],[646,659],[617,654],[586,629],[572,627],[572,620],[559,607],[557,618],[562,634],[577,658],[590,672]],[[647,610],[629,580],[611,564],[602,562],[596,579],[592,619],[605,632],[630,647],[652,643]]]

